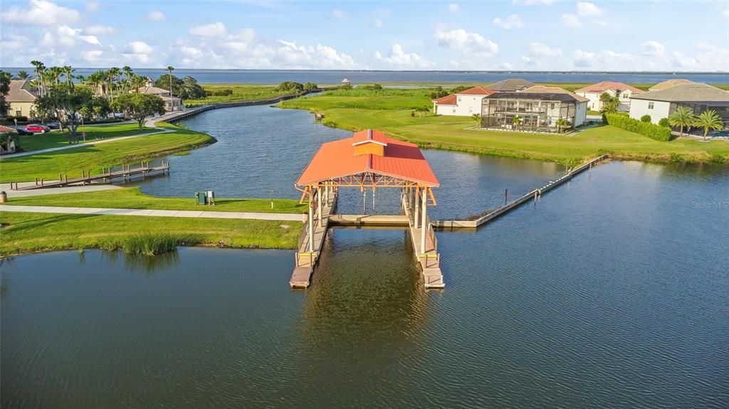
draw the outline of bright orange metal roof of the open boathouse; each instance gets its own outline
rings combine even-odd
[[[386,144],[384,156],[376,154],[355,156],[354,144],[366,143],[367,140]],[[392,176],[423,186],[440,186],[417,145],[387,138],[383,132],[376,130],[356,132],[352,138],[322,144],[296,184],[311,185],[322,180],[359,175],[363,172]]]

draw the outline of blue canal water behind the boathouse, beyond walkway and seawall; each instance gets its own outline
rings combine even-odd
[[[321,143],[349,138],[352,133],[314,122],[308,111],[252,106],[208,111],[183,124],[208,132],[218,142],[184,156],[165,158],[169,176],[148,178],[135,185],[156,196],[190,196],[214,190],[219,197],[298,199],[294,183]],[[437,189],[434,218],[465,218],[553,180],[564,168],[553,163],[424,151],[442,188]],[[340,213],[362,213],[362,194],[342,191]],[[372,192],[367,212],[372,213]],[[375,196],[378,213],[399,213],[399,192],[381,189]]]

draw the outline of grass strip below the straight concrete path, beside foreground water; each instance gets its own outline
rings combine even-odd
[[[185,245],[295,249],[303,223],[115,215],[0,213],[0,257],[78,248],[120,248],[132,235],[167,234]]]

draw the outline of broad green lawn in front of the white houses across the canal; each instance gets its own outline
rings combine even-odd
[[[378,92],[338,90],[312,98],[281,103],[282,108],[324,111],[324,124],[346,130],[373,128],[394,138],[426,148],[443,148],[500,156],[540,159],[574,165],[603,153],[619,159],[659,162],[685,160],[710,162],[712,155],[729,156],[729,143],[715,140],[678,139],[659,142],[612,126],[595,127],[577,135],[543,135],[484,131],[464,116],[412,117],[405,107],[429,103],[426,90],[386,90]],[[399,96],[400,95],[400,96]]]

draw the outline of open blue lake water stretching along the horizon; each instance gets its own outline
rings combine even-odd
[[[3,68],[15,74],[33,68]],[[96,68],[77,68],[79,75],[88,76]],[[157,79],[167,74],[162,69],[138,69],[142,76]],[[601,73],[601,72],[494,72],[494,71],[296,71],[296,70],[175,70],[175,76],[192,76],[206,84],[278,84],[284,81],[315,82],[316,84],[339,84],[349,79],[355,84],[373,82],[428,82],[447,84],[449,82],[497,82],[507,78],[523,78],[531,82],[601,82],[617,81],[628,83],[655,83],[666,79],[687,78],[709,84],[729,83],[728,73]]]

